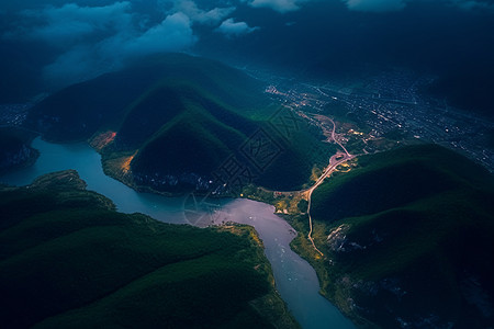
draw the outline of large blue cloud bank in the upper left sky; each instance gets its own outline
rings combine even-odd
[[[53,88],[119,69],[137,56],[189,49],[197,41],[191,19],[175,12],[160,22],[133,12],[127,1],[100,7],[45,7],[21,13],[22,24],[3,38],[45,42],[59,55],[43,69]]]

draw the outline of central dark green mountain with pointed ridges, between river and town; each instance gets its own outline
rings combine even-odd
[[[106,173],[137,188],[295,190],[334,146],[265,88],[217,61],[167,54],[61,90],[35,106],[26,125],[49,140],[90,138]],[[225,178],[228,161],[243,174]]]

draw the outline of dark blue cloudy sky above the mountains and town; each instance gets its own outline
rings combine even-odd
[[[329,73],[355,63],[440,68],[492,54],[493,13],[492,0],[2,0],[0,99],[164,52]]]

